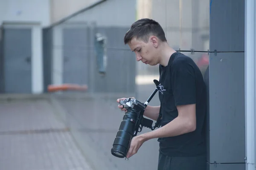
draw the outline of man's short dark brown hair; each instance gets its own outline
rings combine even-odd
[[[143,40],[148,43],[150,35],[158,37],[161,41],[166,42],[163,28],[154,20],[143,18],[133,23],[130,29],[125,33],[124,42],[128,44],[134,37],[137,40]]]

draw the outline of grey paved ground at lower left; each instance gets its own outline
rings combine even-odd
[[[47,100],[0,102],[0,170],[92,170]]]

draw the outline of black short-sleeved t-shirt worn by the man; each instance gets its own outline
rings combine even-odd
[[[197,156],[206,153],[204,121],[206,85],[195,62],[175,52],[166,67],[159,66],[159,99],[164,126],[178,116],[177,105],[196,104],[196,130],[159,138],[160,152],[167,156]]]

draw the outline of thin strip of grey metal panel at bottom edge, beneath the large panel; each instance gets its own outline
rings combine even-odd
[[[245,170],[245,164],[209,164],[207,170]]]

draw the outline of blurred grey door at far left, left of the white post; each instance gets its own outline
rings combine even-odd
[[[3,31],[4,92],[31,93],[31,29]]]

